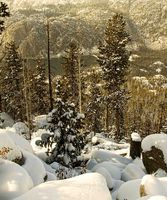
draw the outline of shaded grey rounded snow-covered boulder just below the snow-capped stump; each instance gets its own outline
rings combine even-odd
[[[141,179],[145,175],[144,171],[137,165],[130,163],[122,172],[122,180],[130,181],[134,179]]]

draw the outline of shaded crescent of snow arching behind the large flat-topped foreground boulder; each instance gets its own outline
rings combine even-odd
[[[99,163],[93,167],[92,171],[97,171],[97,169],[101,167],[105,168],[109,172],[112,178],[116,180],[121,179],[121,170],[119,169],[118,166],[115,166],[113,162],[105,161],[105,162]]]

